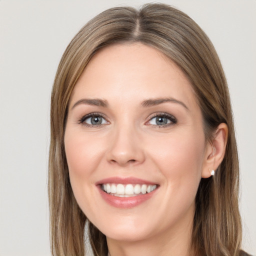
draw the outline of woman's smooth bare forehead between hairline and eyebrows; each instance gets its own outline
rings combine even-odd
[[[189,80],[163,53],[141,43],[112,44],[91,58],[74,86],[71,101],[101,97],[124,103],[163,96],[195,103]]]

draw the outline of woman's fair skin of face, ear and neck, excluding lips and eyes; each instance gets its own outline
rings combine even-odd
[[[102,99],[107,107],[80,102]],[[141,106],[147,99],[176,101]],[[89,125],[89,113],[100,125]],[[176,118],[157,125],[154,114]],[[84,119],[83,119],[84,120]],[[161,52],[141,43],[114,44],[98,51],[70,98],[64,145],[78,205],[107,237],[111,256],[193,255],[195,194],[224,155],[227,128],[220,124],[205,142],[202,115],[189,80]],[[136,177],[158,184],[154,194],[131,208],[109,205],[95,183]]]

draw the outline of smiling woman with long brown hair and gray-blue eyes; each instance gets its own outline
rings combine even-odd
[[[241,255],[238,158],[210,40],[165,4],[108,9],[51,97],[53,255]]]

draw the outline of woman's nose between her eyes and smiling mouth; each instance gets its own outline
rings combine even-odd
[[[110,136],[107,161],[120,166],[135,165],[145,159],[141,137],[132,128],[116,128]]]

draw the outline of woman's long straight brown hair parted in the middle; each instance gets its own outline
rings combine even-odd
[[[88,219],[73,196],[64,151],[64,129],[72,89],[94,53],[111,43],[141,42],[174,61],[195,91],[208,141],[221,122],[228,126],[223,161],[215,176],[201,179],[195,200],[192,246],[196,255],[238,255],[238,157],[226,79],[216,51],[186,14],[160,3],[115,7],[91,19],[74,36],[60,60],[51,94],[48,193],[52,255],[84,255]],[[105,235],[88,221],[94,255],[105,256]]]

